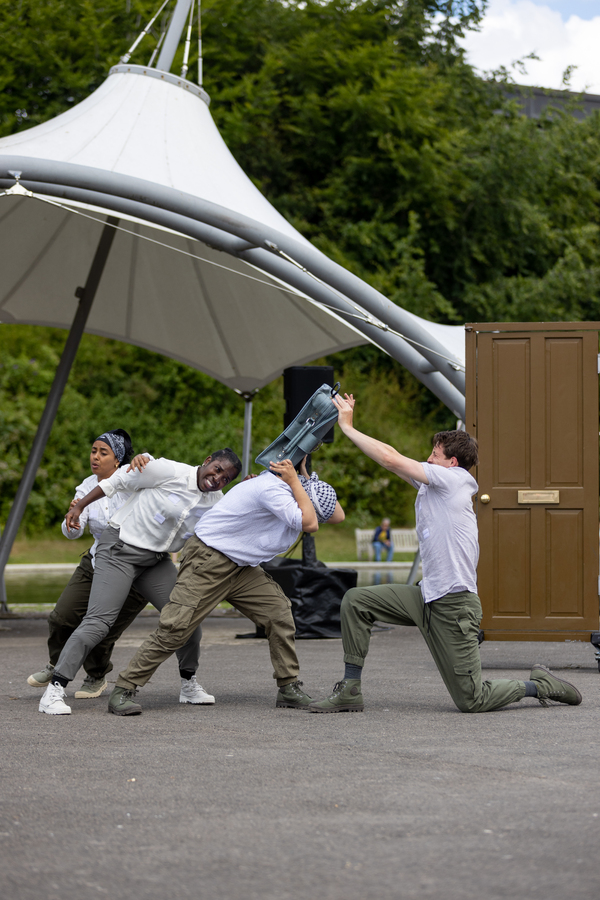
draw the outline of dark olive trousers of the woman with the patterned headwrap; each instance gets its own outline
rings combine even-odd
[[[81,562],[48,616],[48,658],[53,666],[87,613],[93,577],[92,557],[88,551],[81,557]],[[83,668],[90,677],[100,679],[112,671],[110,657],[115,643],[146,605],[145,598],[132,587],[114,625],[106,637],[89,652],[83,663]]]

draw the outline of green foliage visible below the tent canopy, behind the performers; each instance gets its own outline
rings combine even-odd
[[[25,325],[0,328],[0,517],[5,520],[18,487],[65,333]],[[369,356],[369,348],[364,348]],[[422,421],[418,388],[410,377],[373,375],[365,365],[328,362],[359,397],[358,420],[367,431],[411,455],[428,455],[427,436],[440,420],[434,403]],[[360,363],[360,360],[358,360]],[[282,381],[263,388],[253,404],[254,454],[281,431]],[[391,410],[393,409],[393,414]],[[442,414],[443,417],[443,414]],[[75,485],[89,475],[89,449],[103,431],[125,428],[136,452],[149,450],[190,465],[230,446],[241,455],[244,401],[201,372],[138,347],[84,335],[60,403],[27,507],[29,533],[60,522]],[[412,521],[414,492],[390,478],[338,433],[314,454],[315,468],[330,480],[356,521],[368,524],[391,510],[398,524]],[[255,467],[255,471],[258,468]]]

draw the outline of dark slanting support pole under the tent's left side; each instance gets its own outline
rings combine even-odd
[[[77,354],[77,349],[92,308],[92,303],[94,302],[94,297],[96,296],[102,272],[104,271],[104,266],[115,236],[115,229],[113,226],[117,225],[118,222],[119,220],[117,218],[108,216],[96,249],[96,255],[94,256],[94,260],[90,267],[85,287],[77,288],[75,292],[75,296],[79,297],[77,312],[75,313],[69,336],[67,337],[63,348],[54,381],[52,382],[52,387],[50,388],[50,393],[46,400],[46,406],[42,413],[40,424],[38,425],[38,430],[29,453],[29,458],[25,465],[25,469],[23,470],[21,483],[17,489],[15,499],[8,514],[8,519],[6,520],[4,531],[0,537],[0,612],[9,611],[6,602],[4,569],[8,562],[17,532],[19,531],[19,526],[25,512],[25,507],[27,506],[27,501],[29,500],[33,482],[40,462],[42,461],[42,456],[46,449],[46,443],[50,436],[54,419],[56,418],[58,405],[63,395],[75,355]]]

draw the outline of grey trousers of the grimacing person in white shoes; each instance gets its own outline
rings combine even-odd
[[[90,650],[106,637],[116,621],[132,585],[162,610],[176,580],[177,569],[168,553],[133,547],[121,540],[118,529],[106,528],[96,548],[87,613],[63,647],[55,673],[69,681],[75,678]],[[201,635],[198,626],[177,651],[180,669],[195,672],[198,668]]]

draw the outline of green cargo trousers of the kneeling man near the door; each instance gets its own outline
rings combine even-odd
[[[508,678],[482,682],[481,616],[479,597],[468,591],[425,604],[421,589],[413,585],[352,588],[341,608],[344,662],[364,666],[374,622],[416,625],[460,711],[500,709],[523,699],[525,683]]]

